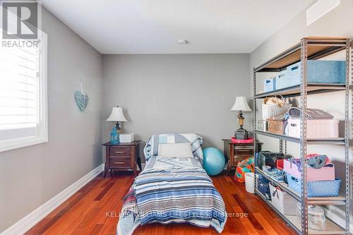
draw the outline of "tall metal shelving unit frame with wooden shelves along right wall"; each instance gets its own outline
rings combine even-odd
[[[294,47],[287,49],[285,52],[275,56],[273,59],[266,61],[260,66],[253,68],[253,96],[254,96],[254,143],[256,143],[257,135],[264,135],[270,138],[279,139],[280,152],[283,152],[283,145],[285,144],[285,152],[287,153],[287,141],[299,143],[300,157],[301,157],[301,193],[292,191],[287,184],[275,181],[267,176],[261,169],[255,167],[256,174],[261,174],[269,181],[272,181],[275,186],[278,186],[282,191],[287,192],[293,198],[301,202],[301,218],[295,216],[282,215],[273,207],[271,202],[262,195],[256,186],[256,177],[254,177],[254,184],[256,194],[262,198],[275,212],[277,212],[285,222],[289,224],[298,234],[349,234],[349,90],[353,90],[353,85],[349,82],[349,61],[350,52],[349,47],[353,47],[353,42],[347,38],[342,37],[305,37],[300,43]],[[346,83],[344,85],[337,84],[318,84],[307,83],[306,66],[309,59],[320,59],[335,52],[345,50],[346,52]],[[301,83],[290,88],[275,90],[272,92],[256,93],[256,73],[262,72],[279,72],[287,66],[301,61]],[[352,55],[353,62],[353,55]],[[353,75],[353,68],[352,68]],[[301,134],[300,138],[293,138],[288,135],[279,135],[267,131],[257,130],[256,118],[256,100],[263,99],[272,95],[282,95],[287,97],[300,97],[301,114],[306,114],[307,97],[311,94],[318,94],[323,92],[334,92],[337,90],[345,91],[345,137],[335,139],[308,139],[306,138],[306,115],[301,115]],[[306,169],[308,167],[306,161],[306,145],[343,145],[345,147],[345,195],[339,197],[318,197],[308,198],[307,192],[307,176]],[[256,147],[256,145],[254,146]],[[256,148],[255,148],[256,150]],[[330,219],[326,220],[325,231],[313,231],[308,227],[308,204],[316,205],[345,205],[345,227],[339,227]]]

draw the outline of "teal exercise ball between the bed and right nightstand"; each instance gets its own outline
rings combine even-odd
[[[225,155],[217,147],[206,147],[203,150],[203,169],[210,176],[220,174],[225,169]]]

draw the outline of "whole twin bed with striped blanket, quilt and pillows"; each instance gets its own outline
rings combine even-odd
[[[225,203],[202,167],[202,143],[196,134],[152,135],[143,151],[148,162],[124,198],[116,234],[130,235],[151,223],[189,223],[222,232]]]

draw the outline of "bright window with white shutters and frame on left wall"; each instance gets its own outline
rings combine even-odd
[[[37,47],[18,47],[21,40],[0,47],[0,152],[48,141],[47,35],[40,35]]]

